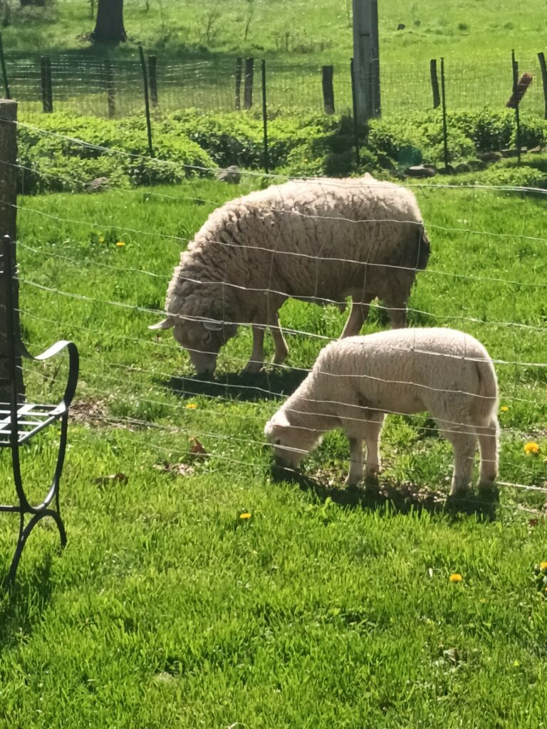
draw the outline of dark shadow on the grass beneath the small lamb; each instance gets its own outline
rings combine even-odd
[[[494,521],[499,504],[499,492],[487,494],[469,491],[463,496],[445,496],[438,491],[416,484],[389,483],[382,480],[379,486],[338,488],[326,486],[313,477],[274,465],[271,468],[274,481],[296,483],[302,491],[311,491],[318,499],[350,509],[385,510],[396,514],[422,513],[446,514],[457,518],[459,514],[476,515],[481,521]]]

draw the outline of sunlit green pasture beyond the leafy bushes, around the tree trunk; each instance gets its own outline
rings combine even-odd
[[[85,59],[101,61],[105,53],[136,60],[136,44],[142,42],[147,52],[158,54],[163,110],[232,109],[236,55],[267,59],[268,103],[271,109],[284,111],[321,109],[320,67],[333,63],[335,103],[339,110],[346,110],[351,108],[349,58],[353,55],[348,4],[351,7],[350,0],[317,0],[310,11],[303,0],[255,0],[245,39],[250,5],[244,0],[150,0],[148,12],[144,0],[126,1],[129,41],[107,51],[86,39],[94,24],[88,4],[57,0],[32,12],[14,9],[12,23],[2,29],[2,35],[15,93],[29,108],[38,108],[41,100],[36,49],[40,54],[66,54],[63,68],[54,61],[55,108],[106,115],[102,67],[79,68],[79,84],[75,84],[74,64]],[[381,3],[379,12],[384,113],[429,109],[429,62],[441,57],[446,60],[449,109],[503,107],[511,93],[514,47],[521,71],[535,75],[523,106],[543,114],[537,59],[545,47],[543,0],[531,0],[525,12],[508,0]],[[216,20],[207,38],[212,13]],[[397,31],[400,23],[406,26],[403,31]],[[174,57],[194,65],[183,69]],[[196,63],[201,64],[199,68]],[[259,75],[257,69],[257,98]],[[115,86],[117,114],[140,113],[139,69],[117,67]]]

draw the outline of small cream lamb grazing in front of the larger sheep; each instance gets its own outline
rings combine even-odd
[[[265,426],[276,460],[297,467],[327,431],[341,427],[349,439],[346,483],[380,467],[379,438],[385,413],[429,411],[454,447],[451,495],[465,491],[477,439],[478,487],[497,477],[497,381],[484,346],[451,329],[406,329],[330,343],[306,380]]]

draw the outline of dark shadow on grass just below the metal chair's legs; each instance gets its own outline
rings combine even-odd
[[[24,555],[23,555],[24,558]],[[42,621],[50,604],[53,585],[50,580],[52,557],[44,554],[32,569],[20,569],[12,585],[6,583],[7,570],[0,584],[0,650],[15,644]]]

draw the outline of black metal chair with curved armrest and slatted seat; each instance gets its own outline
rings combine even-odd
[[[21,553],[23,552],[23,547],[28,539],[28,535],[31,533],[32,529],[34,529],[34,526],[36,526],[36,524],[44,518],[44,516],[50,516],[53,518],[58,526],[59,534],[61,535],[61,545],[64,546],[66,544],[66,531],[63,521],[61,520],[61,512],[59,510],[59,481],[61,479],[66,451],[69,405],[74,397],[74,391],[76,390],[78,381],[79,358],[76,345],[64,340],[57,342],[44,351],[43,354],[39,354],[39,356],[33,357],[28,353],[26,347],[20,341],[18,332],[14,331],[15,311],[12,292],[12,277],[15,276],[15,271],[13,270],[12,265],[12,243],[7,235],[4,236],[2,242],[0,258],[0,289],[5,292],[5,308],[2,308],[4,308],[7,321],[7,368],[5,373],[7,374],[7,378],[2,378],[2,384],[4,386],[4,391],[9,391],[9,402],[0,402],[0,448],[6,448],[11,451],[15,492],[18,499],[18,504],[0,504],[0,512],[15,512],[16,514],[19,514],[19,537],[15,548],[15,554],[12,558],[12,564],[7,576],[7,583],[9,584],[15,580],[15,574],[17,572]],[[61,402],[57,405],[18,402],[18,357],[40,362],[44,359],[50,359],[50,357],[58,354],[63,349],[66,349],[69,354],[69,376]],[[28,501],[25,489],[23,488],[23,480],[20,469],[20,449],[23,448],[23,445],[26,445],[26,443],[28,443],[28,441],[36,435],[36,433],[39,433],[47,426],[55,423],[55,421],[61,421],[61,437],[57,464],[55,466],[53,479],[44,500],[42,503],[34,505]],[[28,523],[26,523],[26,517],[29,517]]]

